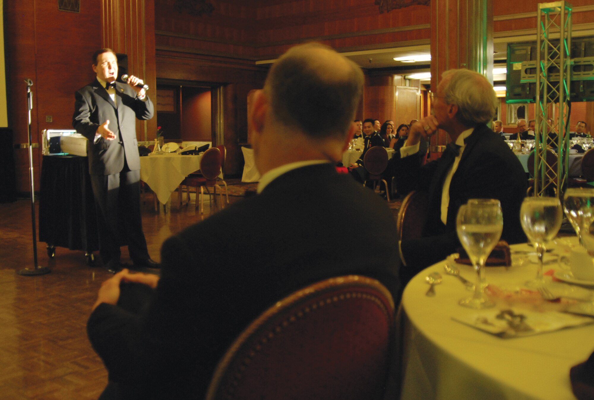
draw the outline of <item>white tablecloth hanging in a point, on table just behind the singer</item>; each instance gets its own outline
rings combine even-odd
[[[149,154],[140,157],[140,179],[146,182],[162,204],[166,204],[179,184],[200,169],[201,155]]]

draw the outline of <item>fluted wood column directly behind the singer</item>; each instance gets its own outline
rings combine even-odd
[[[149,85],[155,116],[137,121],[139,141],[154,140],[157,133],[157,78],[154,43],[154,0],[102,0],[101,43],[128,55],[128,74]]]

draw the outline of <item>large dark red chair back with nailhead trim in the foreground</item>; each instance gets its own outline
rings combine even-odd
[[[219,362],[207,400],[378,399],[394,303],[358,275],[309,285],[254,320]]]

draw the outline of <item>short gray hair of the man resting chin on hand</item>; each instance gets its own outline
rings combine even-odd
[[[456,118],[460,123],[476,126],[493,120],[497,96],[483,75],[469,69],[450,69],[442,77],[448,78],[443,93],[445,102],[458,106]]]

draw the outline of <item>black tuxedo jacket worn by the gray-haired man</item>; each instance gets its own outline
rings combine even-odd
[[[478,125],[467,138],[460,164],[450,183],[447,224],[441,221],[443,181],[451,163],[448,157],[419,167],[418,157],[396,162],[399,191],[423,190],[428,193],[429,208],[421,239],[403,240],[404,279],[412,278],[426,266],[441,261],[460,246],[456,234],[456,215],[460,205],[472,198],[494,198],[503,209],[502,240],[525,242],[520,226],[520,205],[526,196],[527,179],[522,164],[510,147],[486,125]],[[406,269],[406,271],[405,271]],[[407,275],[406,275],[407,274]]]

